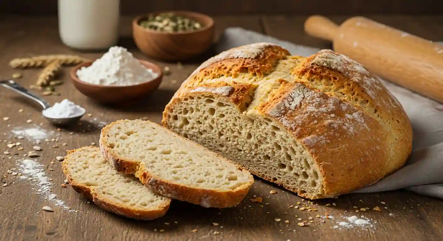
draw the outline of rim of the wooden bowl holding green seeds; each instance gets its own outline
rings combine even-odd
[[[183,31],[183,32],[172,32],[172,33],[162,32],[162,31],[153,31],[153,30],[145,28],[145,27],[143,27],[143,26],[141,26],[139,24],[140,21],[143,20],[143,19],[146,19],[149,14],[157,15],[157,14],[160,14],[160,13],[168,13],[168,12],[175,13],[177,15],[181,15],[181,16],[185,16],[185,17],[190,16],[190,15],[200,15],[200,16],[202,16],[202,18],[207,20],[208,24],[205,24],[206,26],[203,26],[203,27],[199,28],[198,30]],[[206,31],[206,30],[210,29],[211,27],[214,27],[214,19],[212,17],[210,17],[209,15],[206,15],[206,14],[202,14],[202,13],[199,13],[199,12],[193,12],[193,11],[158,11],[158,12],[150,12],[150,13],[148,13],[146,15],[137,16],[132,21],[132,23],[134,25],[136,25],[137,27],[143,29],[144,31],[148,32],[148,33],[170,34],[170,35],[183,35],[183,34],[198,33],[198,32],[202,32],[202,31]]]

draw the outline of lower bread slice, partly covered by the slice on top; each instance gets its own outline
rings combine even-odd
[[[152,220],[162,217],[171,203],[171,199],[153,193],[134,176],[115,171],[101,157],[98,147],[68,151],[62,168],[75,191],[120,216]]]

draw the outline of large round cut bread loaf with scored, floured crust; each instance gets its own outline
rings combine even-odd
[[[412,148],[403,108],[364,66],[332,50],[291,56],[270,43],[205,61],[162,122],[309,199],[373,184],[400,168]]]

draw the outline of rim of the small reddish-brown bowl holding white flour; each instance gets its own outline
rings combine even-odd
[[[158,76],[157,76],[156,78],[150,80],[150,81],[147,81],[147,82],[143,82],[143,83],[140,83],[140,84],[123,85],[123,86],[119,86],[119,85],[90,84],[90,83],[87,83],[87,82],[85,82],[85,81],[80,80],[80,78],[78,78],[78,76],[77,76],[77,70],[80,69],[80,68],[82,68],[82,67],[84,67],[84,66],[90,66],[90,65],[92,65],[92,63],[93,63],[94,61],[85,61],[85,62],[83,62],[83,63],[80,63],[80,64],[76,65],[76,66],[71,70],[71,72],[70,72],[70,76],[71,76],[71,79],[72,79],[73,81],[75,81],[75,82],[77,82],[77,83],[79,83],[79,84],[89,85],[89,86],[91,86],[91,87],[103,88],[103,89],[105,89],[105,88],[132,88],[132,87],[136,87],[136,86],[137,86],[137,87],[141,87],[141,86],[144,86],[144,85],[155,84],[157,81],[159,81],[159,79],[163,78],[163,71],[162,71],[162,69],[161,69],[158,65],[155,65],[154,63],[149,62],[149,61],[146,61],[146,60],[143,60],[143,59],[137,59],[137,60],[140,61],[140,63],[142,63],[142,65],[143,65],[144,67],[146,67],[146,65],[152,65],[152,66],[155,66],[155,69],[152,68],[152,71],[153,71],[154,73],[157,73]]]

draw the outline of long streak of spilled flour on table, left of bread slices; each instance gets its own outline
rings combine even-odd
[[[26,179],[32,182],[32,189],[35,190],[35,194],[43,196],[45,200],[48,200],[54,206],[62,207],[69,212],[75,212],[75,210],[69,209],[66,203],[52,192],[52,182],[46,176],[44,165],[37,161],[25,159],[18,162],[18,169],[21,171],[22,176],[20,179]]]

